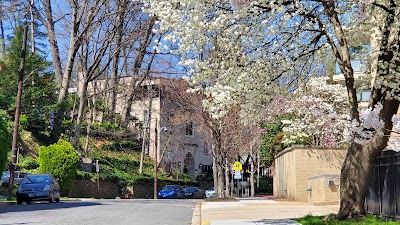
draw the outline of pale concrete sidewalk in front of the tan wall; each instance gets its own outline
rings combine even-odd
[[[237,202],[203,202],[201,225],[295,225],[292,218],[337,213],[338,205],[314,206],[308,203],[259,198]]]

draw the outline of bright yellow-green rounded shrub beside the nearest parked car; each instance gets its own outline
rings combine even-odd
[[[60,191],[64,194],[71,187],[78,166],[77,152],[67,141],[60,139],[56,144],[39,148],[40,173],[50,173],[56,177],[60,184]]]

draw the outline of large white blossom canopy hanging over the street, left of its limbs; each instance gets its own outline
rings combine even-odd
[[[206,90],[210,98],[204,103],[215,117],[237,103],[242,117],[256,117],[260,107],[278,94],[278,86],[293,83],[314,69],[313,59],[300,60],[298,55],[326,48],[325,39],[310,32],[318,26],[316,21],[286,13],[290,8],[300,13],[322,10],[319,3],[280,3],[144,0],[144,10],[157,15],[159,28],[154,31],[166,34],[163,41],[179,46],[170,52],[181,57],[192,84],[211,84]]]

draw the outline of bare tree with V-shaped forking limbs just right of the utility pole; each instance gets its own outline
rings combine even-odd
[[[51,0],[41,0],[41,4],[28,3],[32,8],[32,13],[45,27],[47,31],[48,42],[50,43],[50,52],[53,59],[54,73],[58,84],[58,103],[62,103],[67,94],[68,87],[75,64],[76,54],[85,41],[87,33],[97,24],[98,14],[106,7],[108,0],[72,0],[65,2],[58,7],[61,9],[55,12],[53,6],[57,5]],[[60,4],[60,3],[58,3]],[[57,33],[56,22],[60,23],[58,31],[67,31],[68,35]],[[59,45],[59,37],[68,37],[67,55],[62,62]],[[58,137],[60,133],[61,122],[64,118],[64,111],[57,110],[52,130],[52,136]]]

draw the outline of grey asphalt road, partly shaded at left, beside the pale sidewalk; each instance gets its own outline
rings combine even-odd
[[[0,225],[190,225],[192,199],[113,199],[0,207]]]

